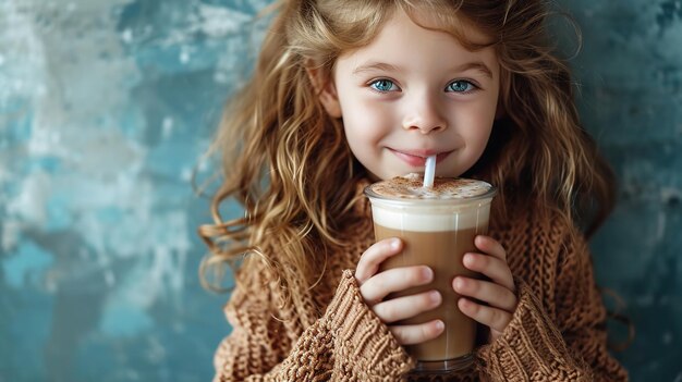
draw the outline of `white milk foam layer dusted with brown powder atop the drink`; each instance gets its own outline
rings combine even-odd
[[[482,181],[436,178],[424,189],[419,174],[369,186],[375,224],[402,231],[440,232],[488,225],[494,187]],[[372,194],[375,195],[372,195]]]

